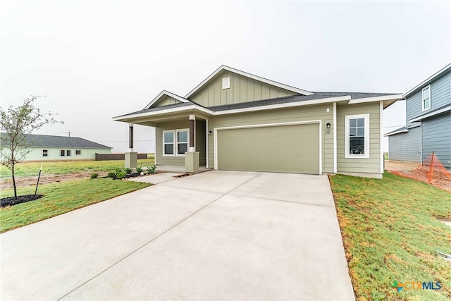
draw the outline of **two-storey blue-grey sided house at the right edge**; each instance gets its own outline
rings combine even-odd
[[[421,163],[432,152],[451,168],[451,64],[405,93],[406,126],[388,136],[390,160]]]

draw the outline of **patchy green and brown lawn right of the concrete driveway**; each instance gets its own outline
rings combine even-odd
[[[451,300],[451,193],[385,172],[383,180],[330,177],[357,300]],[[440,290],[391,288],[441,282]],[[412,285],[409,285],[411,287]]]

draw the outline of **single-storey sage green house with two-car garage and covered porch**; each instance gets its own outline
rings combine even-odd
[[[221,66],[180,97],[163,90],[113,118],[154,127],[156,164],[381,178],[383,109],[401,94],[309,92]]]

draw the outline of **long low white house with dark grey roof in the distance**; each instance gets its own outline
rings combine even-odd
[[[28,135],[27,139],[32,144],[32,151],[25,161],[94,160],[96,153],[111,154],[111,147],[80,137]]]

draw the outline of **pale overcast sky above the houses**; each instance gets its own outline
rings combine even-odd
[[[113,116],[184,96],[227,66],[309,91],[404,93],[451,62],[451,1],[1,2],[1,107],[29,95],[37,134],[128,148]],[[404,125],[403,104],[385,132]],[[385,145],[385,149],[388,147]],[[135,150],[154,129],[135,126]]]

